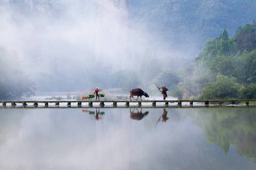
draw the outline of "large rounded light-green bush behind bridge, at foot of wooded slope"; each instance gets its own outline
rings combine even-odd
[[[239,96],[240,85],[237,79],[217,75],[216,81],[209,82],[202,90],[201,99],[233,99]]]

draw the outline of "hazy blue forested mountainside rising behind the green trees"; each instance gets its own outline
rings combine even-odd
[[[255,0],[131,0],[130,15],[168,39],[170,48],[196,54],[206,40],[224,28],[233,36],[237,27],[256,18]],[[188,52],[189,51],[189,52]]]

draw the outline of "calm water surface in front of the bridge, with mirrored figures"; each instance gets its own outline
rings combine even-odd
[[[1,170],[256,169],[256,108],[0,109]]]

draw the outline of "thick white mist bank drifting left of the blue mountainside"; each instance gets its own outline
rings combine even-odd
[[[167,57],[181,57],[147,22],[131,17],[128,0],[10,0],[0,8],[0,47],[14,53],[9,67],[19,67],[37,91],[113,88],[115,72],[139,72],[164,59],[161,72],[170,67]],[[137,85],[147,81],[140,76]]]

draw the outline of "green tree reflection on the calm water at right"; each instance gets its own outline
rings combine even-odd
[[[210,143],[219,145],[225,155],[230,146],[236,146],[239,154],[256,158],[256,112],[249,109],[214,109],[197,113],[196,123],[203,129]],[[256,159],[255,159],[256,161]]]

